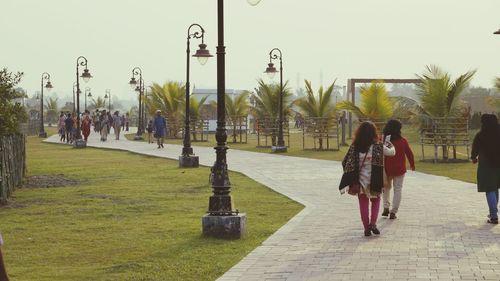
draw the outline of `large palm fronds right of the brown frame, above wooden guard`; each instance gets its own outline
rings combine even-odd
[[[463,114],[464,106],[459,96],[469,85],[475,70],[460,75],[455,81],[448,73],[435,65],[427,66],[424,74],[419,75],[417,84],[421,109],[428,117],[447,117]]]

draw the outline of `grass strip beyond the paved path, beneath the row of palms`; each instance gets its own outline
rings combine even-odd
[[[288,148],[288,152],[283,155],[288,156],[297,156],[297,157],[307,157],[313,159],[323,159],[323,160],[337,160],[341,161],[344,155],[347,152],[347,147],[341,147],[340,151],[311,151],[304,150],[302,148],[302,133],[298,130],[292,130],[290,134],[290,147]],[[471,140],[473,138],[474,132],[471,132]],[[127,135],[127,138],[133,139],[135,134]],[[422,149],[419,141],[419,133],[418,129],[411,126],[403,127],[403,136],[405,136],[410,145],[412,147],[413,153],[415,154],[415,159],[417,161],[417,171],[445,176],[452,179],[462,180],[466,182],[476,183],[476,169],[477,167],[472,163],[426,163],[420,162],[422,159]],[[208,142],[193,142],[193,146],[215,146],[215,137],[214,135],[209,135]],[[231,140],[228,137],[228,140]],[[286,141],[286,140],[285,140]],[[350,143],[350,140],[347,140]],[[167,143],[171,144],[180,144],[182,145],[181,139],[168,139]],[[228,146],[232,149],[240,149],[246,151],[253,152],[261,152],[261,153],[271,153],[270,148],[256,148],[257,145],[257,136],[255,134],[248,135],[248,142],[246,144],[239,143],[229,143]],[[459,155],[459,158],[465,159],[466,150],[463,147],[458,148],[458,152],[464,155]],[[195,148],[196,153],[196,148]],[[425,147],[424,150],[426,159],[432,159],[434,157],[434,148],[433,147]]]

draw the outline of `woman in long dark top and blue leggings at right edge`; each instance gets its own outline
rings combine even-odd
[[[479,161],[478,161],[479,157]],[[486,193],[490,209],[488,223],[498,224],[500,188],[500,125],[493,114],[481,116],[481,130],[474,137],[471,159],[477,166],[477,191]]]

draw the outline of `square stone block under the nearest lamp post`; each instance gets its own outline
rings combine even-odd
[[[224,239],[240,239],[245,237],[247,215],[239,213],[230,216],[205,215],[202,218],[203,235]]]

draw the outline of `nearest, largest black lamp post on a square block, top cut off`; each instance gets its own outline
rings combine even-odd
[[[257,5],[260,0],[247,0]],[[224,46],[224,0],[217,0],[217,129],[215,139],[216,160],[212,167],[210,181],[213,195],[210,196],[208,214],[202,219],[203,234],[215,237],[240,238],[245,234],[246,215],[233,210],[230,195],[226,152],[226,47]]]

